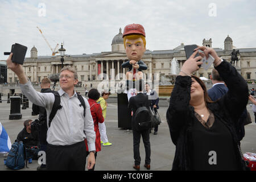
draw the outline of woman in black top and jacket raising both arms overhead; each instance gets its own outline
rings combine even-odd
[[[198,50],[200,56],[195,57]],[[191,74],[212,55],[214,68],[229,88],[220,100],[210,100],[204,82]],[[176,145],[173,170],[245,170],[237,137],[237,122],[247,101],[247,84],[212,48],[197,47],[183,64],[167,110],[172,142]]]

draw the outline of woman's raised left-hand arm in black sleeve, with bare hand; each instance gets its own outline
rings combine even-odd
[[[181,129],[187,126],[189,119],[191,119],[192,106],[189,105],[191,99],[191,74],[199,69],[200,64],[203,64],[201,61],[198,61],[202,59],[201,56],[195,57],[196,53],[197,51],[183,64],[179,76],[175,80],[170,105],[166,113],[172,142],[175,145],[177,144]]]

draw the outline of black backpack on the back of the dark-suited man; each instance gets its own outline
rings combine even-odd
[[[148,130],[151,127],[151,113],[146,106],[138,107],[134,115],[135,129],[137,131]]]

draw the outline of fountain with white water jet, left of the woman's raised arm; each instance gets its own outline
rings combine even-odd
[[[159,96],[170,96],[172,89],[174,89],[174,83],[177,75],[180,72],[179,64],[175,57],[171,61],[171,68],[169,75],[160,77],[158,92]]]

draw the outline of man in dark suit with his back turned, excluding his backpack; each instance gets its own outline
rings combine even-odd
[[[150,149],[150,127],[147,130],[138,131],[137,127],[135,126],[135,113],[140,106],[146,106],[149,110],[150,107],[150,100],[148,100],[148,96],[142,93],[144,84],[142,80],[139,80],[139,88],[137,89],[139,92],[136,96],[131,97],[129,100],[128,105],[128,111],[129,113],[132,113],[132,129],[133,129],[133,152],[134,152],[134,166],[133,168],[139,171],[141,164],[141,156],[139,154],[139,143],[141,140],[141,136],[144,143],[144,148],[146,152],[146,159],[144,167],[146,167],[148,170],[150,169],[150,155],[151,155],[151,149]]]

